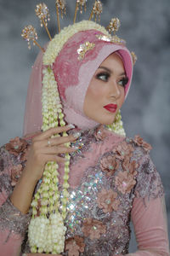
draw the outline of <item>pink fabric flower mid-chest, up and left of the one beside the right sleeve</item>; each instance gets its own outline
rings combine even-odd
[[[119,161],[116,160],[115,155],[108,155],[103,157],[100,160],[100,168],[103,172],[106,172],[107,175],[111,176],[119,166]]]

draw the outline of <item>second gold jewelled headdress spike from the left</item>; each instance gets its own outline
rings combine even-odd
[[[45,3],[39,3],[37,4],[37,7],[35,9],[37,17],[40,19],[41,26],[44,26],[46,31],[48,32],[48,37],[50,40],[52,40],[51,35],[48,31],[48,21],[49,19],[49,10]]]

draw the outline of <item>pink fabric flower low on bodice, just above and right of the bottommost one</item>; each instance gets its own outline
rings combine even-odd
[[[106,227],[97,219],[86,218],[82,226],[82,232],[84,236],[89,236],[90,239],[99,239],[102,234],[105,234]]]

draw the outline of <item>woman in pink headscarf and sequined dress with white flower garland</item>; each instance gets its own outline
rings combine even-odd
[[[132,255],[169,255],[163,188],[150,145],[139,136],[123,136],[119,109],[132,71],[124,41],[86,20],[65,28],[37,57],[26,102],[26,137],[1,149],[4,255],[19,255],[21,244],[27,255],[131,255],[130,218],[139,246]],[[51,230],[33,232],[46,229],[46,221],[52,224],[51,216],[65,220],[66,231],[62,220],[54,222],[56,242]]]

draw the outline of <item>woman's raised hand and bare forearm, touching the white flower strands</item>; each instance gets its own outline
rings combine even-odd
[[[65,143],[76,140],[80,136],[78,132],[66,137],[51,138],[60,132],[69,131],[71,128],[74,128],[74,126],[67,125],[52,128],[32,139],[26,167],[10,196],[14,207],[18,208],[20,212],[28,212],[35,186],[42,177],[45,164],[48,161],[65,162],[65,159],[59,154],[71,153],[77,150],[77,148],[66,147]]]

